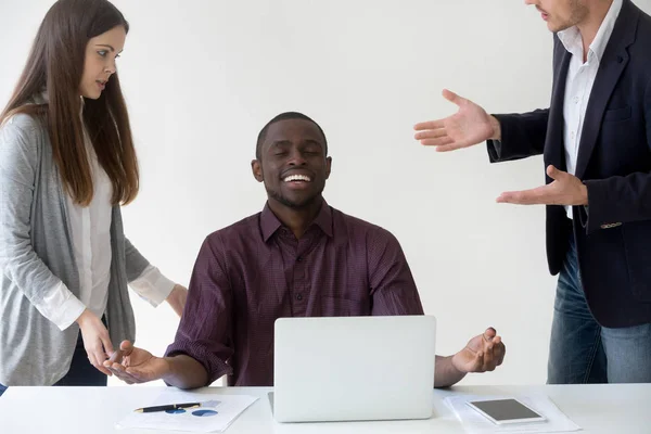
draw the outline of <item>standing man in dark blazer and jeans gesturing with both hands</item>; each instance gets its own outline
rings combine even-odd
[[[459,111],[416,138],[487,141],[490,162],[544,154],[546,184],[498,202],[547,205],[548,382],[651,382],[651,17],[630,0],[525,2],[554,34],[550,107],[490,116],[444,90]]]

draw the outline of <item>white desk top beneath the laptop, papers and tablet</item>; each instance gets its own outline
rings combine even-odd
[[[115,422],[129,411],[149,405],[164,387],[10,387],[0,397],[2,434],[125,433]],[[544,393],[585,433],[651,433],[651,384],[577,386],[459,386],[435,390],[434,417],[424,421],[301,423],[273,421],[267,387],[210,387],[204,391],[259,396],[226,431],[227,434],[383,434],[463,433],[461,424],[442,398],[454,393],[526,395]]]

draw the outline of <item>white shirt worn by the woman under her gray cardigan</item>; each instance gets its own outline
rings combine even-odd
[[[69,195],[66,202],[74,257],[79,270],[79,298],[61,282],[47,301],[47,311],[41,311],[61,330],[71,327],[86,308],[101,318],[108,299],[113,186],[86,133],[85,142],[92,170],[93,197],[88,206],[76,204]],[[157,306],[167,298],[175,283],[150,265],[129,285],[152,306]]]

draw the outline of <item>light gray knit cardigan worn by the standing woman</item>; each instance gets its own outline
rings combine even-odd
[[[79,334],[39,312],[59,282],[79,296],[64,192],[47,128],[15,115],[0,127],[0,383],[52,385],[69,369]],[[111,224],[106,321],[113,345],[135,340],[127,282],[149,263],[125,238],[118,206]]]

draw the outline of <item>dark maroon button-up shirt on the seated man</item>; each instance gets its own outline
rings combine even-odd
[[[267,205],[204,241],[167,356],[196,359],[209,383],[272,386],[278,318],[422,314],[388,231],[323,203],[296,240]]]

